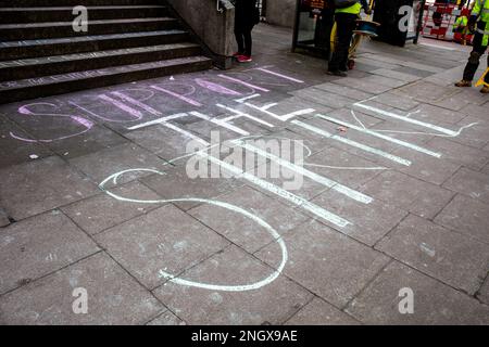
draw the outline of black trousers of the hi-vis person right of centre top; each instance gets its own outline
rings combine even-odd
[[[356,28],[358,18],[359,16],[356,14],[351,13],[335,14],[338,43],[336,44],[335,52],[329,62],[328,69],[330,72],[336,72],[340,68],[344,69],[347,67],[348,51],[353,37],[353,30]]]

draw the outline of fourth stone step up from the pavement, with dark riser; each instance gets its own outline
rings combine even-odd
[[[172,17],[88,21],[89,35],[154,31],[176,28],[178,28],[178,21]],[[72,22],[17,23],[0,25],[0,41],[79,36],[87,36],[87,33],[76,33],[73,30]]]

